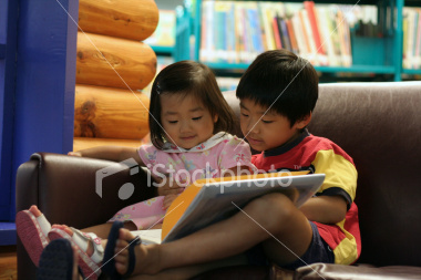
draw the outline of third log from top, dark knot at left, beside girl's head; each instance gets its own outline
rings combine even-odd
[[[76,84],[74,136],[141,139],[150,131],[148,107],[143,93]]]

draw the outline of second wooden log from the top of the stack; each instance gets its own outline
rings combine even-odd
[[[155,76],[156,54],[142,42],[78,33],[76,83],[144,89]]]

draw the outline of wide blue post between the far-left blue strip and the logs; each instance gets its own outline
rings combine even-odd
[[[78,8],[78,0],[20,0],[14,170],[35,152],[72,149]]]

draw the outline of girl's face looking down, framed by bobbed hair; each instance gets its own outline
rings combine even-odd
[[[218,116],[191,95],[161,95],[161,124],[166,139],[188,149],[214,135]]]

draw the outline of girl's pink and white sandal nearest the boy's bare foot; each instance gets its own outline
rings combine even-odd
[[[101,274],[101,268],[99,267],[99,263],[102,261],[104,256],[101,238],[92,232],[85,234],[72,227],[71,229],[73,231],[73,236],[70,236],[62,229],[53,228],[49,232],[49,238],[51,240],[64,238],[69,240],[72,246],[75,246],[79,253],[78,265],[82,269],[83,274],[85,274],[89,279],[97,279]],[[94,249],[94,252],[91,257],[86,255],[89,242],[92,242]]]

